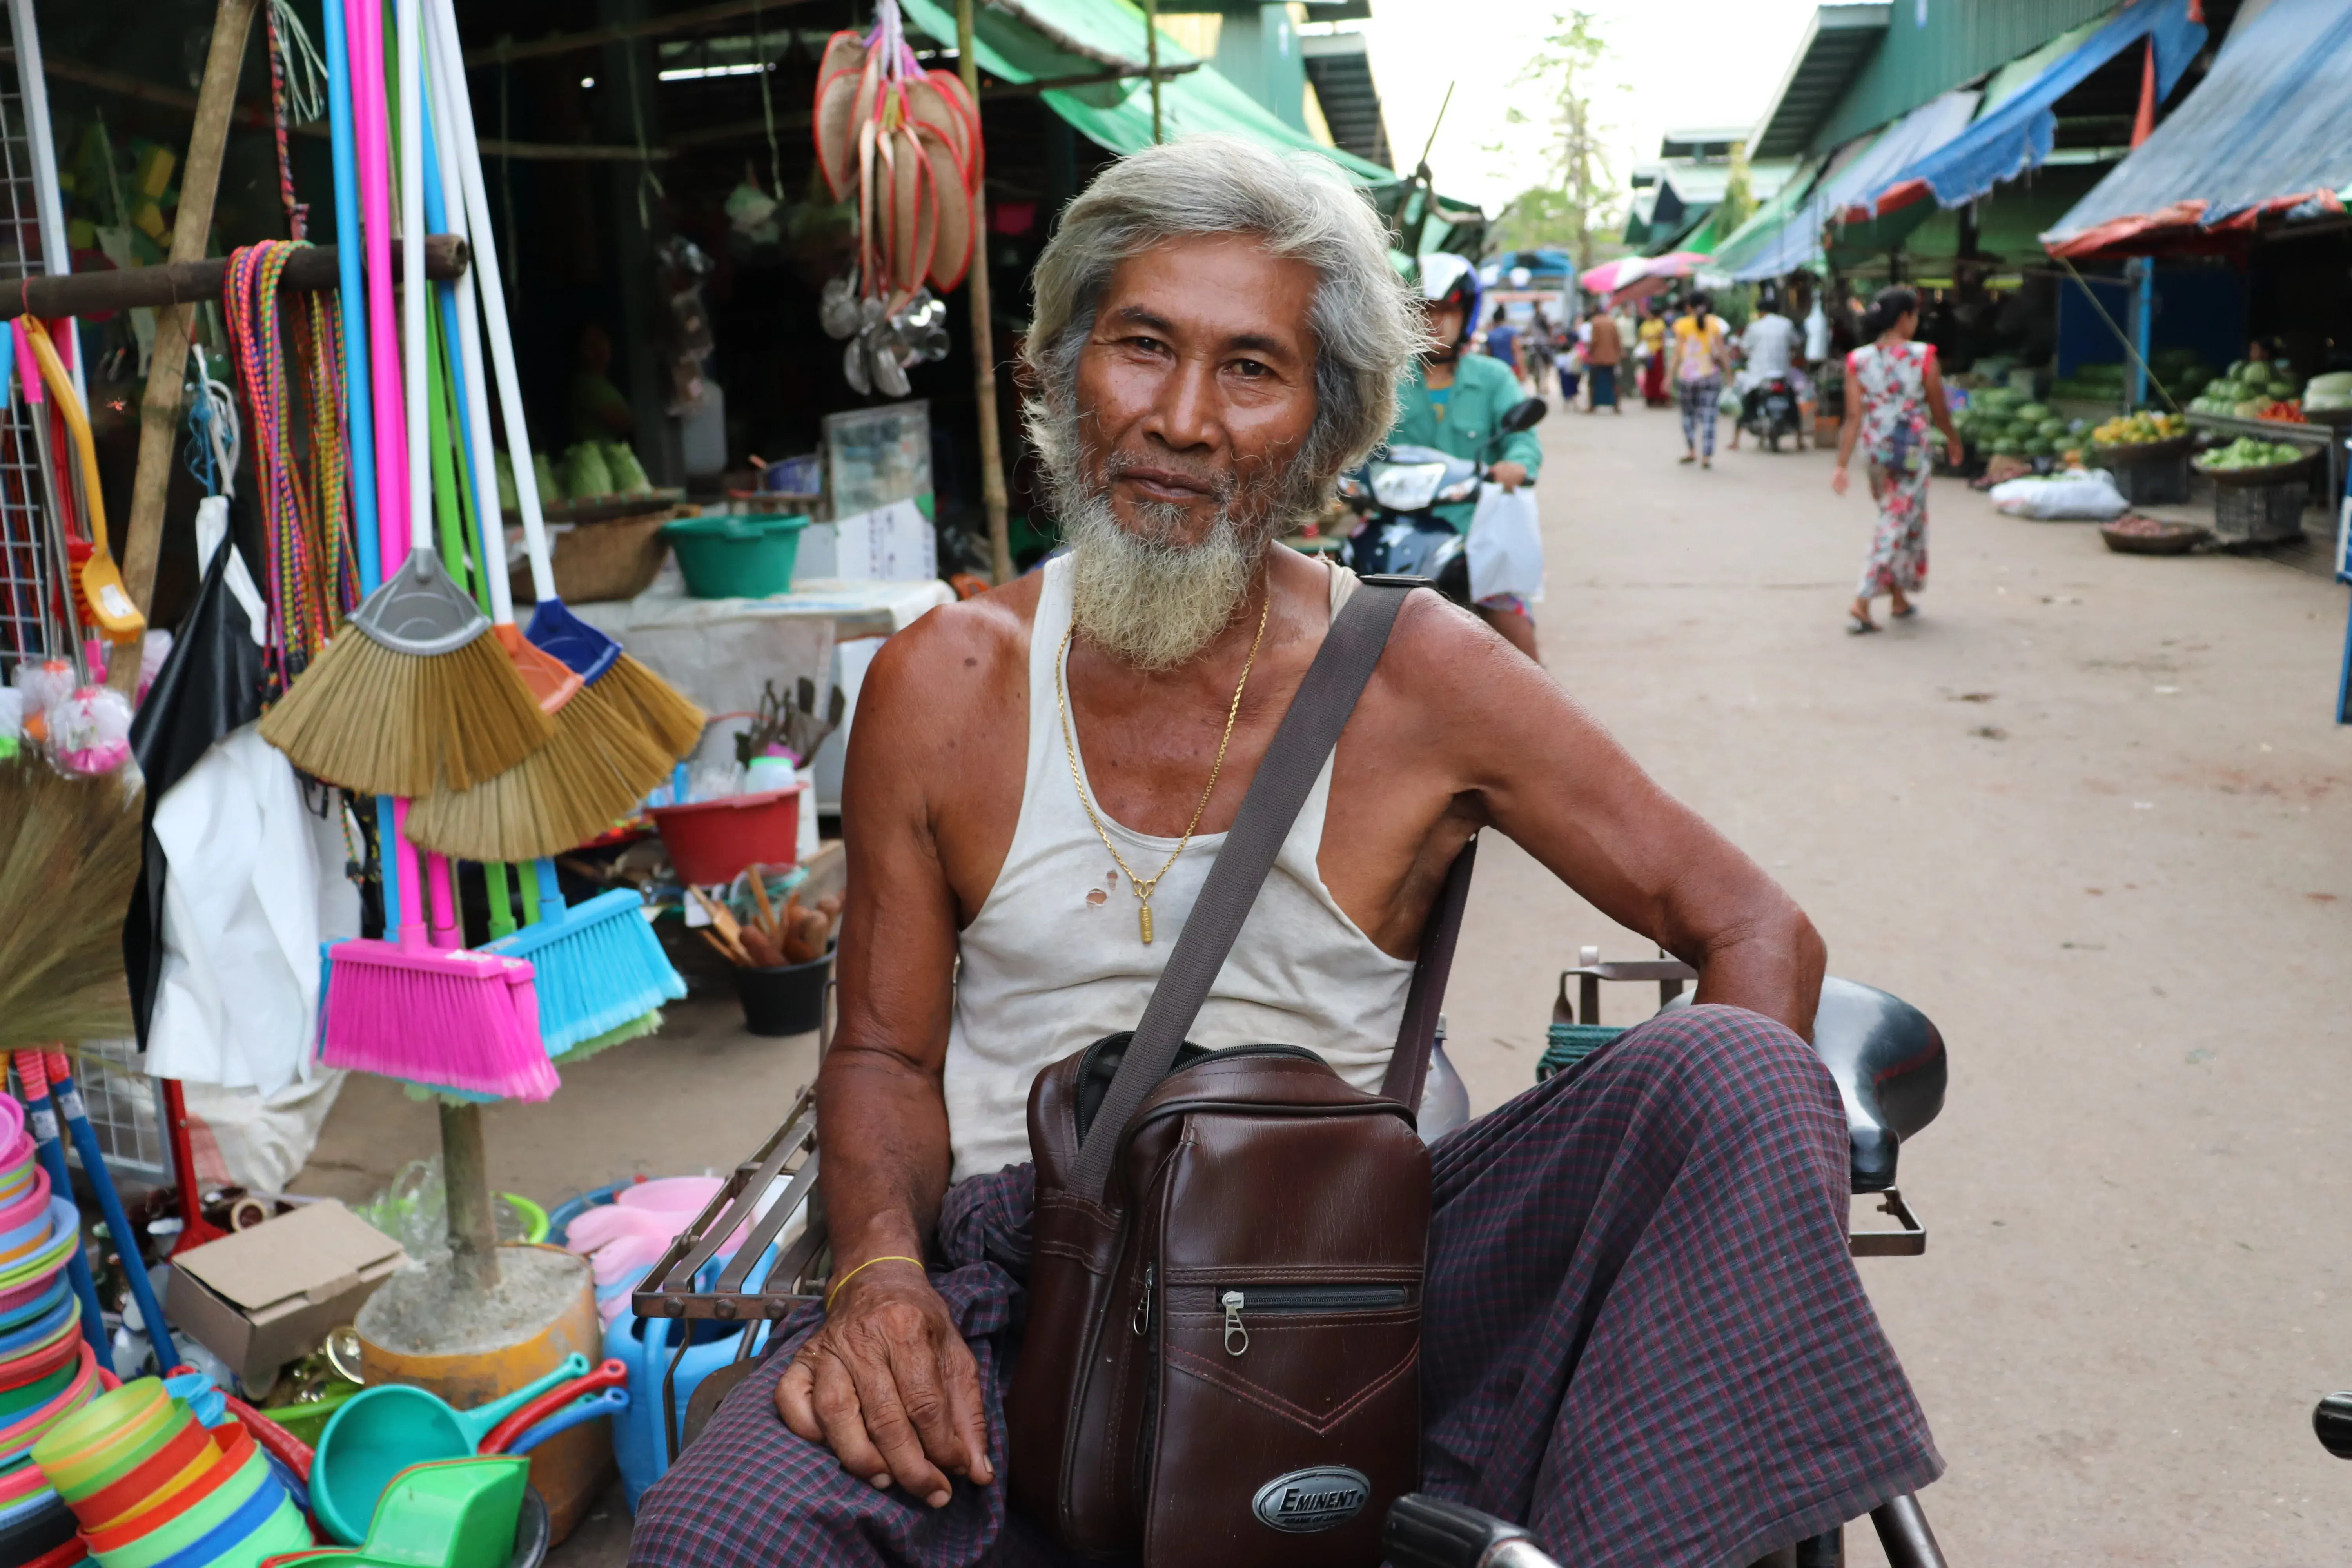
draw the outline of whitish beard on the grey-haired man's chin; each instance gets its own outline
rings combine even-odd
[[[1108,494],[1082,484],[1056,491],[1070,543],[1070,616],[1089,642],[1138,670],[1174,670],[1232,625],[1272,538],[1265,522],[1240,522],[1228,498],[1209,534],[1185,545],[1174,505],[1141,505],[1138,534],[1117,520]]]

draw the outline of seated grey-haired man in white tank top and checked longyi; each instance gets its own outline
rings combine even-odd
[[[1138,153],[1063,214],[1025,355],[1070,550],[866,679],[818,1074],[830,1300],[647,1493],[635,1563],[1065,1561],[1000,1469],[1023,1103],[1134,1027],[1352,588],[1275,541],[1395,414],[1418,324],[1385,252],[1327,165],[1235,141]],[[1820,940],[1475,616],[1406,599],[1190,1037],[1376,1088],[1482,827],[1693,961],[1703,1006],[1435,1145],[1425,1486],[1566,1563],[1712,1566],[1931,1481],[1799,1039]]]

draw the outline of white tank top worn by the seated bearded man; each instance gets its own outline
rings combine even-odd
[[[1331,567],[1331,611],[1355,574]],[[1070,564],[1047,562],[1030,630],[1028,771],[1021,820],[988,903],[957,938],[962,971],[948,1030],[948,1138],[955,1180],[1021,1164],[1028,1091],[1037,1072],[1131,1030],[1176,950],[1200,884],[1225,842],[1204,832],[1152,891],[1152,945],[1136,929],[1136,896],[1087,820],[1061,738],[1056,682],[1070,630]],[[1080,771],[1084,773],[1084,738]],[[1331,898],[1315,865],[1331,762],[1324,759],[1275,867],[1242,926],[1209,1004],[1185,1039],[1211,1051],[1249,1044],[1305,1046],[1364,1091],[1378,1091],[1404,1018],[1411,959],[1381,952]],[[1176,839],[1134,832],[1096,802],[1103,832],[1150,875]]]

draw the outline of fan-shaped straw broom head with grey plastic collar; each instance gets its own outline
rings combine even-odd
[[[353,637],[350,632],[360,632]],[[555,736],[485,616],[430,550],[360,602],[261,719],[306,773],[360,795],[468,790]]]

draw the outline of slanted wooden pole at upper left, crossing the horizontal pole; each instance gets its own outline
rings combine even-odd
[[[261,0],[221,0],[221,9],[212,16],[212,52],[205,56],[205,80],[195,94],[188,167],[179,176],[172,261],[202,261],[212,240],[212,197],[221,188],[228,115],[238,106],[238,75],[259,9]],[[162,552],[162,501],[172,487],[172,451],[179,444],[179,393],[188,374],[191,315],[191,306],[172,306],[155,315],[148,386],[139,400],[139,470],[122,534],[122,585],[141,616],[155,597],[155,557]],[[106,684],[129,696],[139,686],[139,658],[115,658],[111,665]]]

